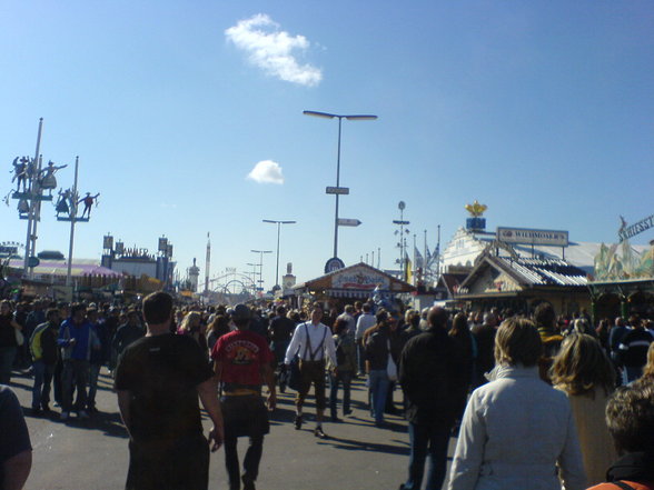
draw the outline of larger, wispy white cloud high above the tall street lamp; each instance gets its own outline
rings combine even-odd
[[[266,73],[280,80],[314,87],[323,80],[323,71],[311,64],[300,64],[295,51],[306,51],[309,41],[304,36],[290,36],[265,13],[240,20],[225,31],[237,48],[248,53],[248,60]]]

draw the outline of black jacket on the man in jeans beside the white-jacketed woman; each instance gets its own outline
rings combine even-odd
[[[453,422],[454,380],[459,369],[454,341],[444,329],[430,328],[406,343],[399,358],[399,382],[409,422]]]

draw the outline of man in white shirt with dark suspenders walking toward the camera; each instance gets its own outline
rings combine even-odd
[[[336,362],[336,349],[331,331],[323,323],[323,308],[315,303],[310,312],[311,321],[300,323],[293,333],[293,339],[286,350],[285,364],[288,367],[291,359],[297,353],[299,356],[300,387],[295,399],[295,428],[299,430],[303,427],[303,406],[311,383],[316,390],[316,429],[314,436],[326,439],[323,431],[323,414],[327,407],[325,397],[325,358],[329,357],[334,366]]]

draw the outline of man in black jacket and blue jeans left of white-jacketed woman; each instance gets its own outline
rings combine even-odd
[[[419,490],[425,459],[429,457],[427,489],[443,486],[447,444],[454,423],[454,391],[457,364],[453,340],[447,334],[447,312],[429,310],[428,329],[412,338],[399,359],[399,382],[409,422],[410,454],[408,479],[402,490]]]

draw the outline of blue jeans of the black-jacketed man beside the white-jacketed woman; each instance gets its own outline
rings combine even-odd
[[[409,422],[408,431],[412,448],[408,479],[402,487],[403,490],[420,490],[427,457],[429,458],[429,468],[425,490],[440,490],[445,480],[447,464],[449,424],[426,426]]]

